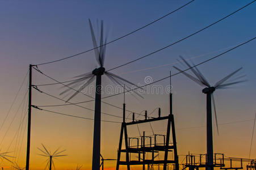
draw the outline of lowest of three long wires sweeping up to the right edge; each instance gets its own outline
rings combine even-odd
[[[255,0],[255,1],[256,1],[256,0]],[[194,65],[194,66],[188,67],[187,69],[184,69],[184,70],[182,70],[182,71],[179,71],[178,73],[171,74],[171,75],[169,75],[169,76],[166,76],[165,78],[161,78],[161,79],[156,80],[156,81],[154,81],[154,82],[152,82],[152,83],[148,83],[148,84],[142,85],[142,86],[140,86],[140,88],[149,86],[149,85],[154,84],[154,83],[157,83],[157,82],[161,82],[162,80],[165,80],[165,79],[167,79],[167,78],[170,78],[171,76],[175,76],[175,75],[181,74],[181,73],[183,73],[184,71],[190,70],[190,69],[192,69],[192,68],[194,68],[194,67],[196,67],[196,66],[202,65],[203,63],[209,62],[209,61],[211,61],[212,59],[215,59],[215,58],[217,58],[217,57],[220,57],[220,56],[222,56],[223,54],[228,53],[228,52],[230,52],[230,51],[232,51],[232,50],[234,50],[234,49],[236,49],[236,48],[238,48],[238,47],[240,47],[240,46],[242,46],[242,45],[245,45],[245,44],[247,44],[248,42],[253,41],[253,40],[255,40],[255,39],[256,39],[256,37],[253,37],[252,39],[247,40],[247,41],[245,41],[245,42],[242,42],[241,44],[238,44],[238,45],[234,46],[233,48],[231,48],[231,49],[229,49],[229,50],[226,50],[225,52],[223,52],[223,53],[221,53],[221,54],[218,54],[217,56],[214,56],[214,57],[211,57],[211,58],[209,58],[209,59],[206,59],[205,61],[200,62],[200,63],[198,63],[198,64],[196,64],[196,65]],[[128,90],[128,91],[126,91],[126,92],[131,92],[131,91],[137,90],[137,89],[138,89],[138,87],[133,88],[133,89],[131,89],[131,90]],[[106,99],[106,98],[108,98],[108,97],[117,96],[117,95],[120,95],[120,94],[123,94],[123,93],[124,93],[124,92],[120,92],[120,93],[118,93],[118,94],[114,94],[114,95],[102,97],[102,99]],[[89,103],[89,102],[91,102],[91,101],[95,101],[95,100],[80,101],[80,102],[73,103],[73,104]],[[60,105],[51,105],[51,106],[52,106],[52,107],[53,107],[53,106],[56,106],[56,107],[57,107],[57,106],[64,106],[64,105],[71,105],[71,104],[60,104]]]

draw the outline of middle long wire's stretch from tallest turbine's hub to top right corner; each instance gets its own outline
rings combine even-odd
[[[125,66],[125,65],[128,65],[129,63],[132,63],[132,62],[138,61],[138,60],[140,60],[140,59],[142,59],[142,58],[151,56],[152,54],[157,53],[157,52],[160,52],[161,50],[166,49],[166,48],[168,48],[169,46],[173,46],[173,45],[177,44],[178,42],[181,42],[181,41],[183,41],[183,40],[186,40],[186,39],[188,39],[189,37],[194,36],[194,35],[196,35],[197,33],[202,32],[202,31],[204,31],[205,29],[211,27],[212,25],[215,25],[215,24],[221,22],[222,20],[224,20],[224,19],[228,18],[229,16],[235,14],[236,12],[242,10],[243,8],[245,8],[245,7],[249,6],[249,5],[251,5],[251,3],[255,2],[255,1],[256,1],[256,0],[254,0],[254,1],[250,2],[250,3],[248,3],[247,5],[245,5],[245,6],[241,7],[240,9],[238,9],[238,10],[232,12],[231,14],[226,15],[224,18],[221,18],[221,19],[217,20],[216,22],[214,22],[214,23],[212,23],[212,24],[209,24],[207,27],[204,27],[204,28],[200,29],[199,31],[196,31],[196,32],[192,33],[191,35],[184,37],[183,39],[180,39],[180,40],[178,40],[178,41],[176,41],[176,42],[173,42],[172,44],[167,45],[167,46],[165,46],[165,47],[163,47],[163,48],[161,48],[161,49],[155,50],[154,52],[149,53],[149,54],[147,54],[146,56],[142,56],[142,57],[139,57],[139,58],[137,58],[137,59],[133,59],[132,61],[129,61],[129,62],[127,62],[127,63],[124,63],[124,64],[122,64],[122,65],[120,65],[120,66],[116,66],[116,67],[114,67],[114,68],[112,68],[112,69],[110,69],[110,70],[107,70],[107,71],[111,71],[111,70],[115,70],[115,69],[117,69],[117,68],[119,68],[119,67],[123,67],[123,66]]]

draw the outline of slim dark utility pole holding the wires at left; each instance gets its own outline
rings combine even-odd
[[[30,134],[31,134],[31,90],[32,90],[32,65],[30,65],[30,83],[28,85],[28,135],[27,135],[27,160],[26,170],[30,169]]]

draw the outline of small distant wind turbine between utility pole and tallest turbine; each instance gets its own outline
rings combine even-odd
[[[45,148],[45,146],[42,144],[43,146],[43,150],[41,150],[39,147],[38,150],[40,150],[41,152],[43,152],[43,154],[38,154],[38,155],[41,155],[41,156],[45,156],[45,157],[48,157],[49,159],[47,159],[47,165],[45,166],[44,169],[46,169],[47,167],[49,167],[49,170],[52,170],[52,165],[55,169],[55,165],[53,163],[53,159],[56,158],[56,157],[61,157],[61,156],[68,156],[68,155],[60,155],[62,152],[66,151],[66,150],[62,150],[62,151],[59,151],[60,148],[57,148],[56,151],[53,152],[53,154],[51,153],[51,151],[48,151],[47,148]]]

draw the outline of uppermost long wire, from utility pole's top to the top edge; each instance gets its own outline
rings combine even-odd
[[[153,22],[150,22],[149,24],[146,24],[146,25],[144,25],[144,26],[142,26],[142,27],[140,27],[140,28],[135,29],[135,31],[132,31],[132,32],[130,32],[130,33],[127,33],[127,34],[125,34],[125,35],[123,35],[123,36],[121,36],[121,37],[118,37],[118,38],[116,38],[116,39],[110,41],[110,42],[107,42],[107,43],[105,43],[105,44],[103,44],[103,45],[97,46],[96,48],[89,49],[89,50],[86,50],[85,52],[81,52],[81,53],[78,53],[78,54],[74,54],[73,56],[69,56],[69,57],[57,59],[57,60],[50,61],[50,62],[40,63],[40,64],[37,64],[37,66],[46,65],[46,64],[49,64],[49,63],[58,62],[58,61],[62,61],[62,60],[64,60],[64,59],[68,59],[68,58],[72,58],[72,57],[75,57],[75,56],[79,56],[79,55],[81,55],[81,54],[90,52],[91,50],[98,49],[98,48],[100,48],[101,46],[111,44],[112,42],[115,42],[115,41],[117,41],[117,40],[123,39],[124,37],[127,37],[127,36],[129,36],[129,35],[131,35],[131,34],[137,32],[137,31],[140,31],[141,29],[143,29],[143,28],[145,28],[145,27],[148,27],[149,25],[151,25],[151,24],[153,24],[153,23],[158,22],[159,20],[165,18],[166,16],[168,16],[168,15],[170,15],[170,14],[173,14],[174,12],[180,10],[181,8],[187,6],[188,4],[190,4],[190,3],[194,2],[194,1],[195,1],[195,0],[192,0],[192,1],[188,2],[188,3],[186,3],[185,5],[183,5],[183,6],[179,7],[179,8],[177,8],[176,10],[171,11],[171,12],[169,12],[168,14],[161,16],[161,18],[158,18],[158,19],[154,20]]]

